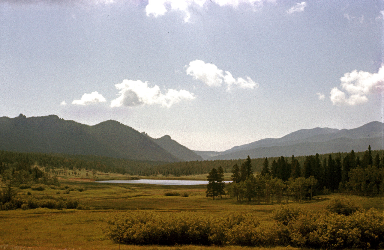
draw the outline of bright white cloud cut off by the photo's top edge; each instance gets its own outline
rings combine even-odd
[[[147,16],[161,16],[168,11],[179,11],[184,14],[184,21],[189,21],[190,8],[202,8],[206,3],[215,3],[222,6],[238,7],[240,4],[246,4],[251,7],[257,7],[263,2],[275,2],[275,0],[149,0],[146,6]]]

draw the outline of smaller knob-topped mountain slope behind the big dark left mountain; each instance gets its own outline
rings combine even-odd
[[[148,136],[145,132],[142,132],[142,134]],[[161,138],[151,138],[148,136],[152,141],[154,141],[157,145],[161,146],[165,150],[167,150],[172,155],[176,156],[177,158],[183,160],[183,161],[202,161],[203,158],[196,154],[194,151],[190,150],[186,146],[181,145],[175,140],[172,140],[169,135],[164,135]]]

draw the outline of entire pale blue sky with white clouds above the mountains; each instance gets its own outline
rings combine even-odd
[[[383,122],[377,0],[0,0],[0,117],[192,150]]]

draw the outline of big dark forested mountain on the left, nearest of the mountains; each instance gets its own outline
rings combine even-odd
[[[0,117],[0,150],[180,161],[150,138],[119,122],[109,120],[89,126],[56,115]]]

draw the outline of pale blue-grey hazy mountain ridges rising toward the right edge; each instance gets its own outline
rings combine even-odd
[[[370,122],[353,129],[335,128],[301,129],[281,138],[266,138],[241,146],[235,146],[223,152],[216,152],[207,160],[229,160],[247,158],[311,155],[314,153],[332,153],[338,151],[383,149],[382,137],[384,123]],[[348,139],[348,140],[347,140]],[[350,139],[350,140],[349,140]],[[362,145],[361,143],[365,143]],[[205,151],[195,151],[204,155]],[[204,157],[203,157],[204,158]]]

